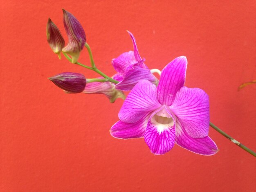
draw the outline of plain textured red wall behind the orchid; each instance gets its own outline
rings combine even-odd
[[[123,100],[64,94],[47,77],[96,75],[58,60],[46,41],[50,17],[65,39],[62,8],[85,29],[98,67],[137,40],[150,68],[177,56],[189,65],[186,86],[210,96],[211,121],[256,150],[256,2],[1,1],[0,191],[237,191],[256,188],[256,159],[210,128],[220,151],[200,156],[175,146],[162,156],[144,139],[112,138]],[[80,61],[89,63],[86,51]]]

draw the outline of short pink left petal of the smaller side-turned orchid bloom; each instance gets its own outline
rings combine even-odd
[[[124,73],[129,65],[133,65],[135,63],[138,62],[135,59],[133,51],[125,52],[112,60],[113,67],[119,73]]]

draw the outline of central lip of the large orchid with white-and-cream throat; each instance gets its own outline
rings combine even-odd
[[[153,154],[164,154],[173,148],[175,120],[166,107],[158,109],[150,116],[144,140]]]

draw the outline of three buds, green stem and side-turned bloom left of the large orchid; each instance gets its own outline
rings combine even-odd
[[[66,46],[58,27],[50,18],[47,22],[47,41],[52,51],[58,54],[60,59],[61,53],[63,53],[71,63],[93,70],[102,76],[100,78],[86,79],[83,74],[65,72],[49,78],[66,93],[104,94],[113,103],[117,98],[125,99],[123,91],[130,91],[140,80],[145,79],[153,84],[158,84],[158,79],[144,64],[145,59],[139,55],[135,38],[129,31],[127,32],[132,39],[134,51],[125,52],[112,60],[112,65],[117,73],[109,77],[95,66],[90,47],[86,42],[85,31],[79,20],[63,9],[63,22],[68,36]],[[88,50],[92,67],[77,62],[83,47]]]

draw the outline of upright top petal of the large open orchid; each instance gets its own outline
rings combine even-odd
[[[177,91],[184,86],[187,60],[180,56],[172,60],[162,70],[159,85],[157,86],[157,98],[159,103],[172,105]]]

